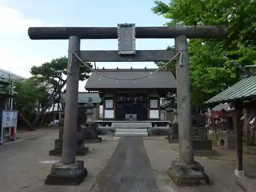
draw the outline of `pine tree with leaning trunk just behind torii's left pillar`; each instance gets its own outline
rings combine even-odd
[[[80,62],[79,63],[79,80],[83,81],[89,78],[90,69],[92,68],[92,64],[90,62]],[[44,108],[40,111],[40,113],[35,118],[35,122],[39,119],[39,117],[44,114],[45,110],[50,106],[51,102],[54,101],[57,94],[65,87],[67,79],[65,76],[67,75],[67,66],[68,66],[68,58],[60,57],[56,59],[52,59],[50,62],[42,63],[40,66],[33,66],[31,68],[30,73],[37,78],[40,82],[44,83],[45,86],[52,93],[52,96],[49,98],[49,102],[46,103]]]

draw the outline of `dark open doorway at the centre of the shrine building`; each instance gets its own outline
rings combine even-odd
[[[116,120],[124,121],[125,115],[137,115],[137,121],[147,120],[147,103],[145,101],[118,101],[116,102]]]

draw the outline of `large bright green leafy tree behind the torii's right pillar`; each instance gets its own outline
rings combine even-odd
[[[203,102],[240,79],[242,66],[255,65],[256,1],[172,0],[155,1],[154,13],[169,18],[165,26],[226,25],[224,39],[188,39],[191,104],[203,108]],[[163,63],[156,63],[158,66]],[[171,63],[169,68],[174,68]]]

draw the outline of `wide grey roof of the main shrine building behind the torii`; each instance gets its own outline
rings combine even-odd
[[[100,74],[115,78],[136,78],[153,73],[157,69],[102,69],[97,70]],[[96,72],[92,72],[87,80],[87,90],[97,90],[105,88],[129,89],[129,88],[146,88],[146,89],[169,89],[176,88],[177,82],[173,73],[169,70],[159,70],[156,73],[135,80],[117,80],[104,77]]]

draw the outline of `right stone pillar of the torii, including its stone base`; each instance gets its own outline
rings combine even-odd
[[[175,48],[181,51],[176,64],[178,123],[179,123],[179,160],[174,160],[168,175],[178,185],[200,185],[209,182],[204,167],[194,160],[193,137],[190,110],[190,78],[188,71],[187,37],[178,35]]]

